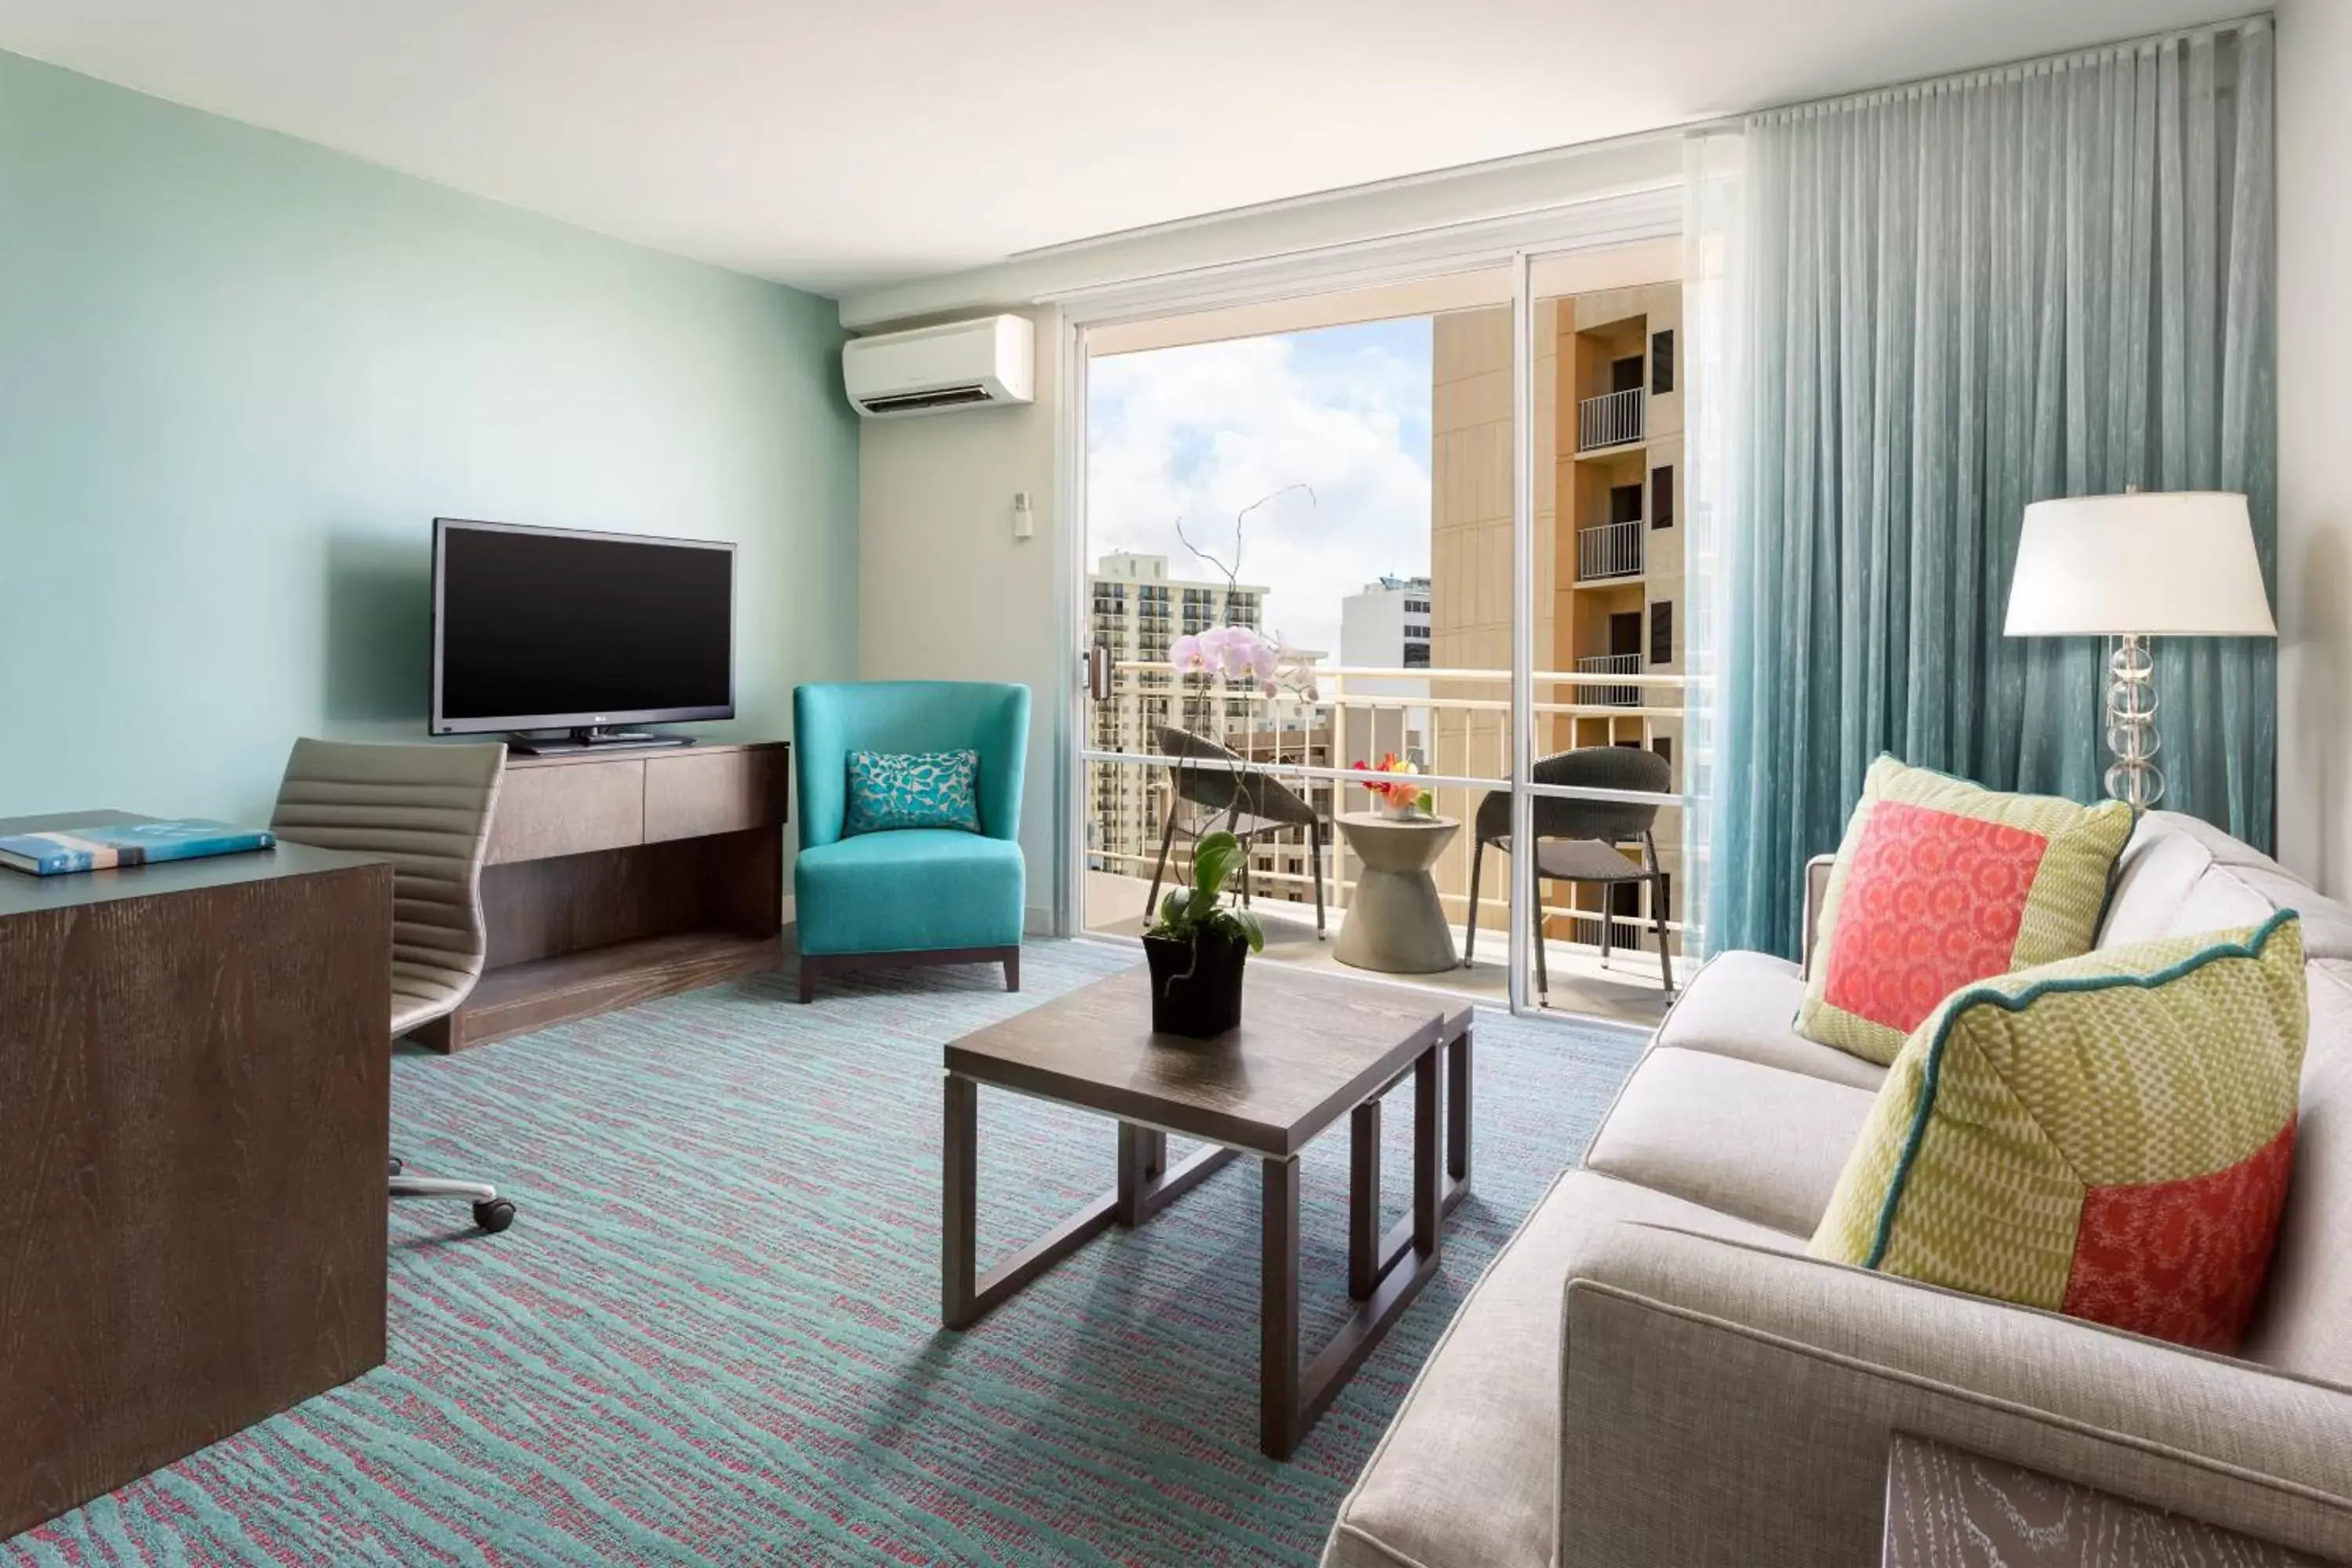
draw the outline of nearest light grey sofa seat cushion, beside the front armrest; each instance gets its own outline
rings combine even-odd
[[[1802,1241],[1595,1171],[1552,1182],[1430,1352],[1355,1490],[1327,1568],[1548,1568],[1559,1516],[1559,1309],[1623,1220],[1795,1251]]]

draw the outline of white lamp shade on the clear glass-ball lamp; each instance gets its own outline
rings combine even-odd
[[[2147,491],[2034,501],[2009,637],[2277,637],[2246,498]]]

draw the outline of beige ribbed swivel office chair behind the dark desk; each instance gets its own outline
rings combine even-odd
[[[365,745],[296,741],[270,832],[287,844],[353,849],[393,863],[393,1034],[447,1018],[482,978],[482,849],[506,745]],[[501,1232],[513,1199],[489,1182],[409,1175],[395,1199],[473,1199],[473,1222]]]

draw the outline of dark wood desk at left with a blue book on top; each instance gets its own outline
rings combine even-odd
[[[0,1537],[383,1361],[390,950],[365,856],[0,870]]]

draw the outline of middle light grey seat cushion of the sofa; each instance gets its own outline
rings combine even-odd
[[[1811,1237],[1872,1103],[1867,1088],[1658,1048],[1625,1081],[1585,1164]]]

